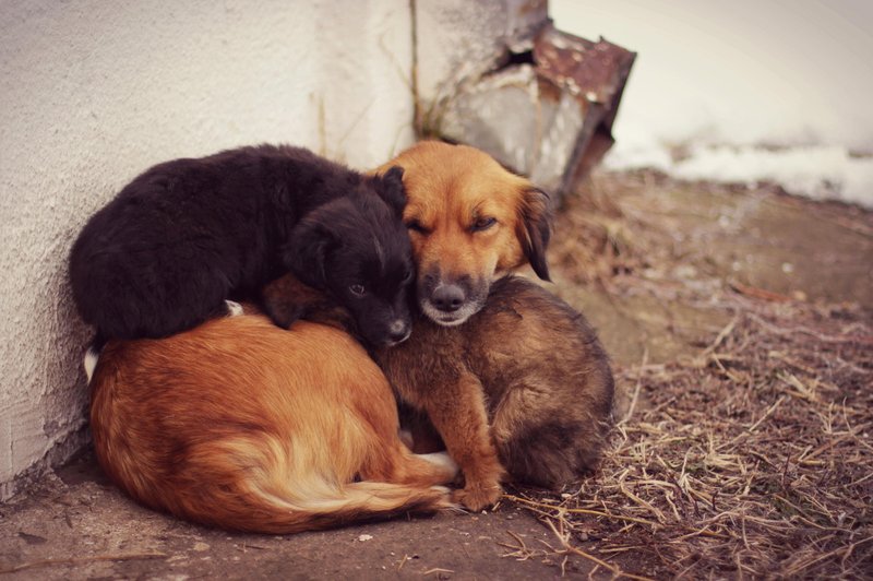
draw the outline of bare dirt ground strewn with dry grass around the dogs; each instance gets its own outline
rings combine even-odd
[[[598,174],[550,258],[615,367],[595,477],[262,536],[145,510],[86,452],[0,505],[0,579],[873,576],[873,214]]]

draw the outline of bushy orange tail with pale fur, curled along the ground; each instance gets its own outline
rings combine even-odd
[[[427,472],[420,482],[446,482],[453,470],[438,464],[409,454],[405,465],[407,472],[408,472],[409,481]],[[331,529],[405,512],[432,513],[455,506],[443,486],[376,481],[340,484],[330,469],[301,469],[276,439],[242,437],[205,444],[189,456],[190,481],[139,490],[129,487],[128,491],[147,505],[193,521],[273,534]],[[432,476],[440,473],[447,476],[442,481]]]

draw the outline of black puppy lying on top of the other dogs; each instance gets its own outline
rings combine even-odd
[[[412,271],[402,177],[272,145],[152,167],[88,221],[70,253],[95,346],[193,328],[227,312],[228,299],[258,300],[288,270],[349,308],[373,344],[403,341],[410,319],[397,285]],[[340,262],[356,266],[331,272]]]

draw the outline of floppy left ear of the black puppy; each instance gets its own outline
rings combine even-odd
[[[282,261],[301,282],[324,289],[325,262],[338,245],[339,240],[324,224],[304,220],[294,227],[288,244],[282,248]]]

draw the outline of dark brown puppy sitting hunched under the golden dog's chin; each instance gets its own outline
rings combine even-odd
[[[264,297],[355,331],[342,308],[292,276]],[[530,281],[495,281],[459,327],[419,315],[408,341],[371,355],[402,401],[433,423],[464,474],[454,500],[471,510],[497,501],[504,469],[515,482],[555,488],[597,465],[611,423],[608,357],[581,313]]]

